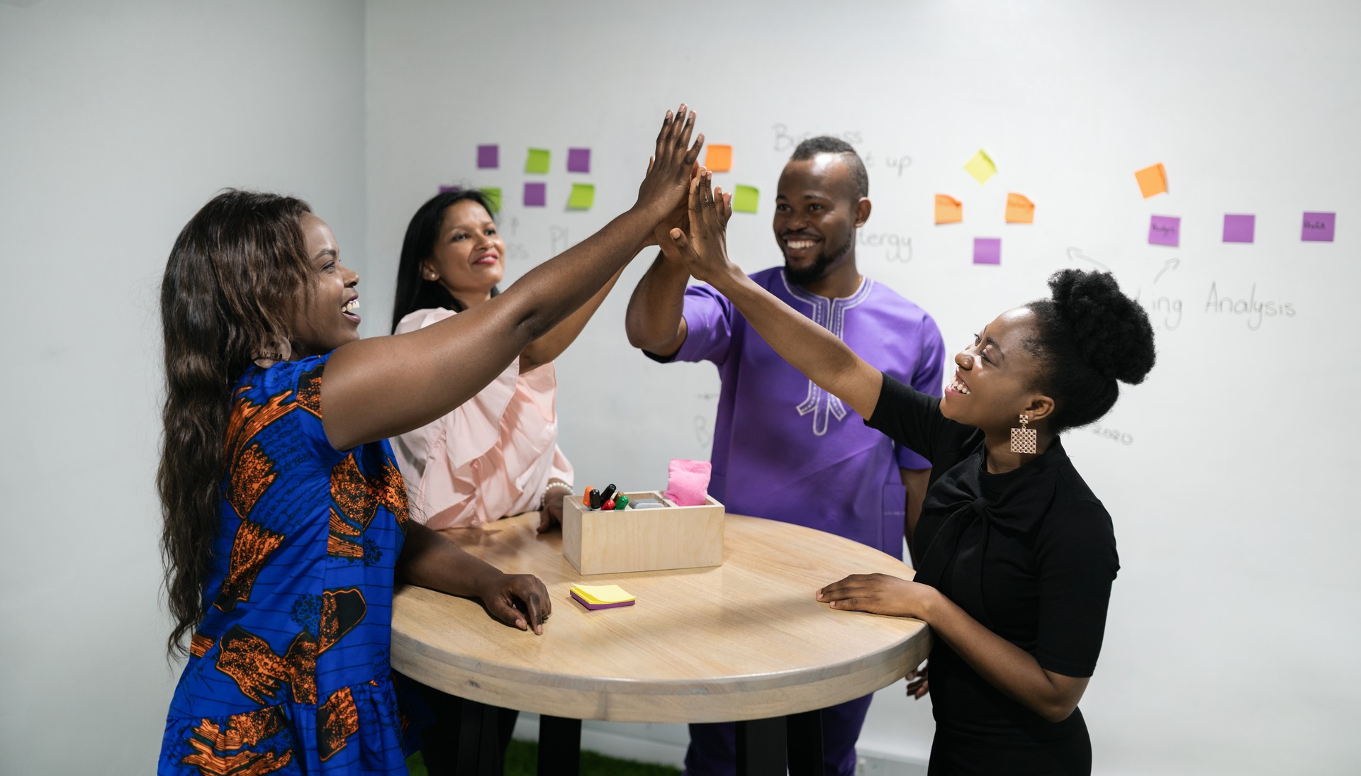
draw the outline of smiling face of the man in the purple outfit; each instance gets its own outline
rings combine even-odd
[[[774,238],[789,280],[807,286],[855,263],[855,230],[870,218],[841,154],[815,154],[784,166],[774,204]]]

